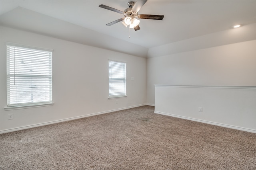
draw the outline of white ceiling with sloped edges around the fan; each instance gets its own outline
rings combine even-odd
[[[54,34],[57,38],[146,57],[147,50],[152,47],[231,29],[237,23],[256,23],[256,0],[148,0],[138,14],[164,15],[162,21],[140,19],[141,29],[138,31],[129,30],[121,22],[106,26],[123,16],[98,6],[104,4],[123,11],[128,8],[127,2],[128,0],[1,0],[1,25],[28,31],[33,31],[33,27],[34,32],[43,35]],[[36,20],[37,25],[48,24],[48,27],[53,27],[50,24],[54,22],[60,25],[59,28],[55,25],[55,29],[68,30],[54,33],[50,29],[40,29],[40,26],[35,25]],[[68,31],[73,36],[67,37]],[[89,39],[90,42],[84,39]],[[131,49],[126,51],[127,48],[132,48],[135,52],[129,52]]]

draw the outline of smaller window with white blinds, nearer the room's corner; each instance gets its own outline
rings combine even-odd
[[[126,96],[126,63],[108,61],[108,98]]]

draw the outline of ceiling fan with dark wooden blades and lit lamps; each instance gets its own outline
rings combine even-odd
[[[120,18],[118,20],[112,21],[110,23],[107,23],[106,25],[110,26],[120,21],[123,21],[122,24],[124,26],[127,27],[129,25],[130,28],[134,28],[134,30],[137,31],[140,29],[139,27],[140,20],[137,20],[136,18],[151,19],[151,20],[162,20],[164,18],[163,15],[138,14],[138,11],[146,2],[147,0],[137,0],[135,3],[133,1],[130,1],[128,2],[129,8],[125,9],[124,11],[120,11],[103,4],[101,4],[99,7],[124,15],[124,18]]]

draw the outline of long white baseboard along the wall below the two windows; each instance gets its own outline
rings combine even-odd
[[[38,123],[38,124],[34,124],[34,125],[28,125],[28,126],[23,126],[23,127],[17,127],[17,128],[13,128],[13,129],[6,129],[6,130],[1,130],[0,134],[2,133],[8,133],[8,132],[14,132],[14,131],[20,131],[23,129],[29,129],[29,128],[33,128],[33,127],[39,127],[39,126],[45,126],[45,125],[50,125],[50,124],[54,124],[54,123],[60,123],[60,122],[64,122],[64,121],[70,121],[70,120],[75,120],[75,119],[81,119],[84,117],[90,117],[90,116],[95,116],[95,115],[101,115],[101,114],[105,114],[105,113],[110,113],[110,112],[114,112],[114,111],[120,111],[120,110],[125,110],[125,109],[131,109],[134,107],[140,107],[140,106],[145,106],[147,104],[140,104],[140,105],[135,105],[135,106],[130,106],[130,107],[123,107],[123,108],[119,108],[119,109],[113,109],[113,110],[108,110],[108,111],[102,111],[102,112],[98,112],[98,113],[91,113],[88,115],[82,115],[82,116],[77,116],[77,117],[70,117],[67,119],[60,119],[60,120],[56,120],[56,121],[49,121],[49,122],[45,122],[45,123]]]

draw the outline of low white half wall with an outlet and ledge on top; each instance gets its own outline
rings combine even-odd
[[[256,86],[156,85],[155,102],[155,113],[256,133]]]

